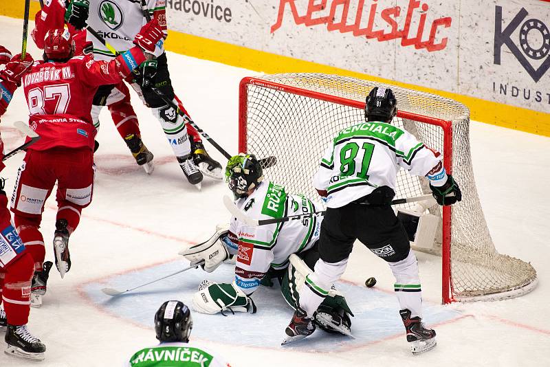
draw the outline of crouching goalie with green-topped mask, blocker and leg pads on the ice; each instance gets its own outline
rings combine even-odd
[[[274,219],[322,210],[319,203],[264,181],[261,164],[254,155],[232,157],[225,176],[237,208],[247,216]],[[281,284],[285,300],[296,309],[298,289],[305,280],[301,274],[307,273],[319,258],[321,222],[322,217],[310,216],[303,221],[251,226],[232,218],[229,227],[220,228],[209,241],[180,252],[192,264],[204,261],[203,269],[208,272],[214,271],[230,254],[237,254],[234,281],[201,282],[193,297],[195,309],[208,314],[226,310],[256,313],[250,296],[260,285],[272,285],[273,278]],[[336,289],[331,289],[331,297],[316,311],[316,322],[322,329],[350,333],[349,315],[353,314]]]

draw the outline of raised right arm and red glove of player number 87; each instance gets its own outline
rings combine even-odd
[[[86,80],[94,86],[120,82],[146,60],[146,54],[155,51],[155,45],[161,39],[162,30],[157,21],[150,21],[135,35],[133,41],[135,47],[120,54],[114,60],[107,63],[106,61],[94,61],[91,56],[87,56],[89,59],[83,67]]]

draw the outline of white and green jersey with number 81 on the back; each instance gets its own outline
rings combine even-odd
[[[384,122],[362,122],[340,131],[331,142],[314,177],[314,187],[327,191],[329,208],[340,208],[379,186],[395,190],[401,167],[441,186],[447,178],[442,158],[404,129]]]

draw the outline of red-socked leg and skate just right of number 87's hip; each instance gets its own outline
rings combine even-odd
[[[137,116],[130,102],[130,91],[124,82],[115,85],[107,98],[107,106],[118,133],[124,139],[138,166],[146,173],[153,172],[153,153],[142,141]]]

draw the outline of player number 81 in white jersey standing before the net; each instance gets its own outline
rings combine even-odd
[[[445,172],[439,152],[391,124],[396,114],[393,91],[374,88],[366,98],[366,122],[340,131],[321,159],[314,186],[328,208],[321,226],[320,259],[306,278],[307,287],[300,290],[300,307],[287,326],[285,342],[314,332],[314,312],[344,273],[353,243],[359,239],[386,260],[395,276],[399,314],[412,353],[436,345],[435,331],[422,324],[417,258],[390,203],[399,168],[426,176],[439,205],[461,201],[461,191]]]

